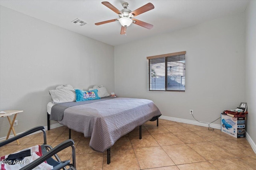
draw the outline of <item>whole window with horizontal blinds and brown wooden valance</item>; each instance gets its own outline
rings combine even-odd
[[[148,90],[185,92],[186,51],[147,57]]]

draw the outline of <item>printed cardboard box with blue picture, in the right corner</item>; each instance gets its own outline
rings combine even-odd
[[[246,117],[232,117],[221,113],[221,131],[236,138],[245,137]]]

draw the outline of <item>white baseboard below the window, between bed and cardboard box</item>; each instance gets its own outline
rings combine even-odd
[[[181,122],[181,123],[188,123],[191,125],[198,125],[198,126],[204,126],[204,127],[208,127],[207,123],[200,123],[198,121],[194,121],[194,120],[188,120],[188,119],[180,119],[180,118],[176,118],[176,117],[168,117],[168,116],[160,116],[159,119],[165,119],[165,120],[170,120],[170,121],[177,121],[177,122]],[[220,129],[220,125],[218,124],[210,124],[210,127],[214,128],[214,129]]]

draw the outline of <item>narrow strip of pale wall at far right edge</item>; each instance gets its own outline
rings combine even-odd
[[[250,1],[246,8],[245,102],[246,131],[256,143],[256,1]]]

